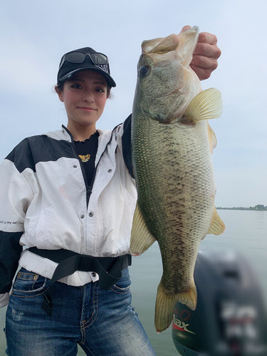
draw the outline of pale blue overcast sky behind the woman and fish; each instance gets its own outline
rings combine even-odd
[[[224,113],[209,122],[216,206],[267,205],[266,0],[10,0],[0,11],[0,159],[24,137],[67,123],[53,93],[64,53],[89,46],[108,55],[112,90],[102,129],[132,110],[143,40],[199,26],[215,33],[222,55],[202,87],[222,93]]]

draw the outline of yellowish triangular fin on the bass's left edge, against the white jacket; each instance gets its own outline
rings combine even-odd
[[[150,231],[147,229],[147,224],[145,224],[145,220],[142,217],[137,201],[132,221],[130,253],[133,256],[141,255],[141,253],[147,251],[147,248],[150,248],[155,241],[155,237],[152,236]]]

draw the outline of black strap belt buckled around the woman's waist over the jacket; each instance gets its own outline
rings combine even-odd
[[[52,313],[51,286],[59,279],[70,276],[75,271],[95,272],[99,276],[100,288],[109,290],[117,281],[120,281],[122,270],[132,264],[132,256],[130,255],[93,257],[64,250],[63,248],[60,250],[39,250],[37,247],[30,247],[28,251],[58,263],[51,278],[51,284],[46,294],[43,294],[42,308],[49,316]]]

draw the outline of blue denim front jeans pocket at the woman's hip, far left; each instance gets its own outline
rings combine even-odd
[[[44,293],[50,284],[50,280],[38,273],[21,268],[13,284],[11,295],[17,297],[36,297]]]

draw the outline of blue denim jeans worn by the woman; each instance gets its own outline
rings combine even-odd
[[[50,280],[21,268],[6,311],[9,356],[155,356],[137,313],[130,305],[128,268],[110,290],[98,282],[82,287],[56,282],[51,317],[41,308]]]

